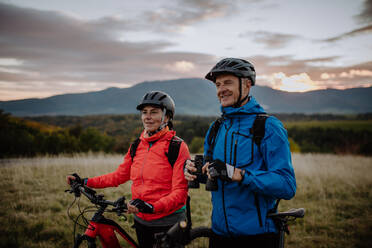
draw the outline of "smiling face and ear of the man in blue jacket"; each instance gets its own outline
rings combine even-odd
[[[248,81],[248,80],[247,80]],[[242,84],[242,98],[249,93],[250,82],[244,80]],[[216,78],[217,97],[222,107],[234,105],[239,98],[239,78],[230,75],[222,74]]]

